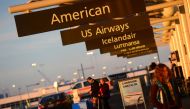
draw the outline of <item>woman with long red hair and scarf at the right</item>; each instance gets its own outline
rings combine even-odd
[[[182,103],[172,72],[165,64],[158,64],[151,86],[151,103],[157,109],[181,109]]]

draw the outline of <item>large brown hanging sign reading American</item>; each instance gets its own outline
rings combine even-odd
[[[85,0],[14,17],[18,36],[22,37],[145,11],[144,0]]]

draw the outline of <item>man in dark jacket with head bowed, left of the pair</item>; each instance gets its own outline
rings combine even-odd
[[[87,81],[91,84],[91,90],[89,91],[89,94],[92,97],[93,108],[96,109],[98,107],[98,94],[100,90],[99,82],[91,77],[88,77]]]

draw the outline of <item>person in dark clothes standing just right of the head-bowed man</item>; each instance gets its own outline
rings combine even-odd
[[[102,109],[110,109],[109,106],[109,98],[110,98],[110,90],[109,85],[105,83],[104,79],[100,79],[100,107]]]

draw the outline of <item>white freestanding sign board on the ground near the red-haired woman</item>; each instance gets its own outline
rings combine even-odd
[[[144,103],[145,99],[139,78],[125,79],[118,82],[124,109]]]

